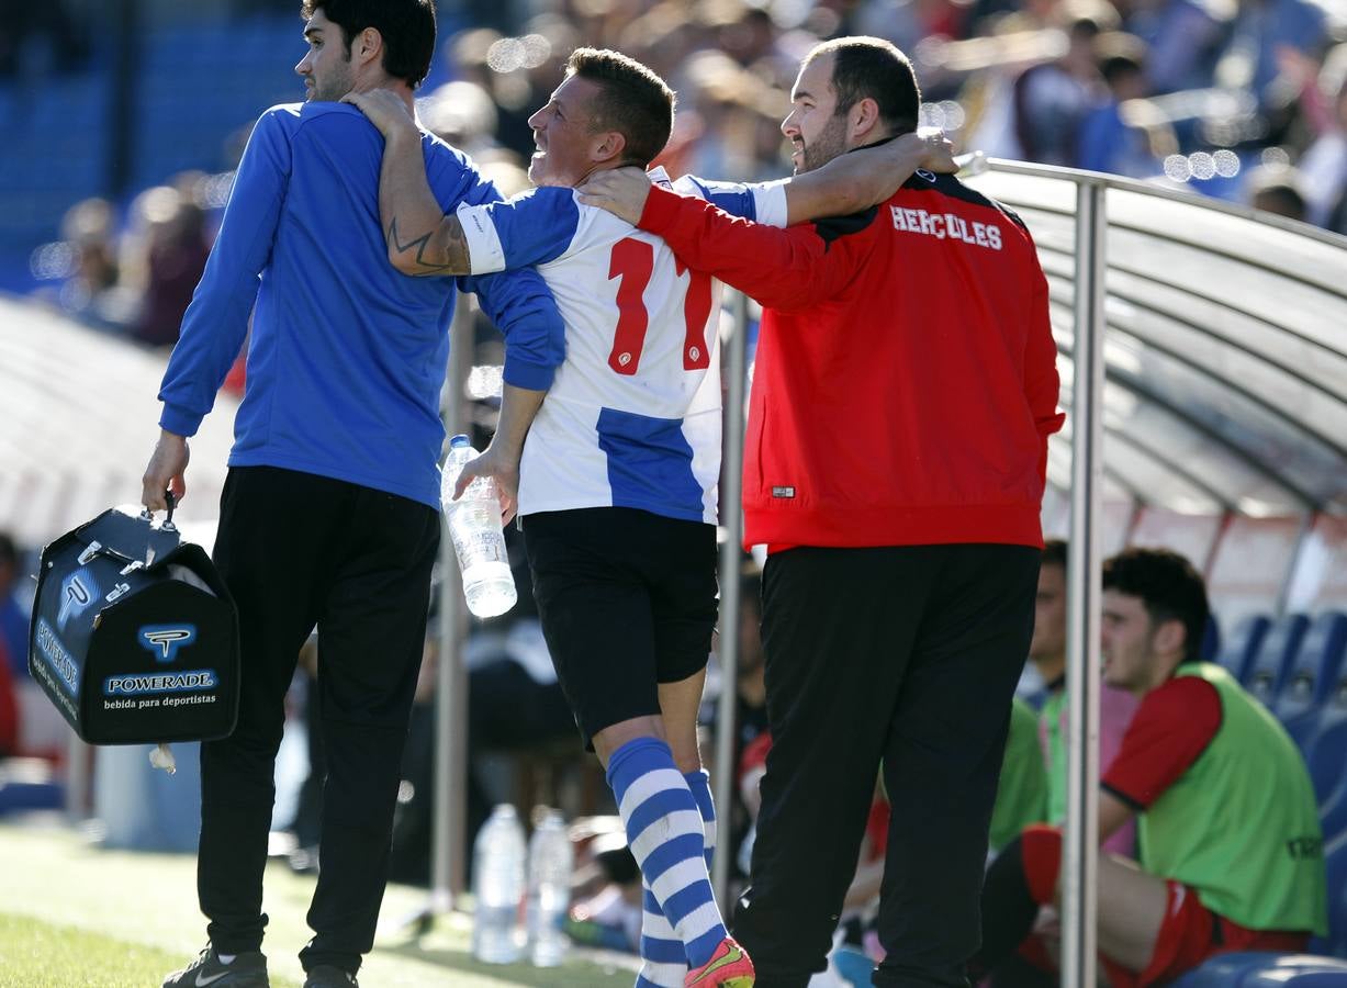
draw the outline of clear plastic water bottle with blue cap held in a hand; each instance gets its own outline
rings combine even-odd
[[[505,553],[505,534],[501,530],[501,508],[496,496],[496,481],[478,477],[463,496],[454,500],[454,484],[463,465],[477,456],[466,435],[449,441],[449,457],[442,472],[439,500],[449,518],[449,534],[458,553],[458,567],[463,574],[463,596],[467,609],[478,617],[496,617],[515,607],[515,577],[509,572]]]

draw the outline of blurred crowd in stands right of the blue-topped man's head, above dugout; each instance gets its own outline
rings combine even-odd
[[[1224,9],[1200,0],[568,7],[529,19],[517,36],[455,35],[455,82],[427,93],[427,125],[506,170],[532,151],[525,119],[566,54],[605,44],[648,62],[678,92],[671,173],[777,178],[788,167],[777,125],[799,57],[819,38],[872,34],[913,58],[924,123],[960,150],[1196,179],[1196,189],[1294,218],[1344,220],[1347,49],[1307,0]]]

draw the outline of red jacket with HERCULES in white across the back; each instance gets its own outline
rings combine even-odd
[[[791,229],[655,187],[641,229],[764,307],[745,545],[1041,546],[1057,349],[1018,217],[951,175]]]

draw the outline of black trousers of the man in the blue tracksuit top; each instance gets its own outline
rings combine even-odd
[[[230,469],[216,565],[238,604],[238,725],[201,747],[197,891],[221,953],[256,950],[284,697],[321,640],[327,752],[306,968],[360,968],[384,896],[399,763],[426,636],[439,516],[405,497],[269,466]]]

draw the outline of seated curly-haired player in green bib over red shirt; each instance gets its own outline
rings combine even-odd
[[[1099,859],[1099,953],[1114,985],[1173,980],[1226,950],[1304,950],[1325,931],[1315,791],[1281,724],[1200,662],[1202,577],[1129,549],[1103,567],[1106,681],[1141,705],[1100,782],[1099,838],[1133,815],[1141,860]],[[1057,895],[1061,836],[1032,826],[987,872],[979,970]]]

